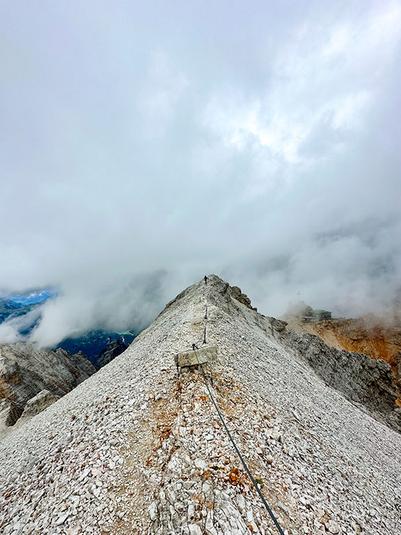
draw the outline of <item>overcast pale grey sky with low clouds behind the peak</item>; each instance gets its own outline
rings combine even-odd
[[[211,272],[266,315],[391,302],[400,1],[13,0],[0,28],[0,287],[62,293],[33,340],[141,328]]]

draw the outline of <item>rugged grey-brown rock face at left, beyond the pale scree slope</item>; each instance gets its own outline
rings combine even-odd
[[[26,403],[40,391],[49,391],[57,399],[95,371],[82,355],[70,355],[63,350],[53,352],[22,342],[1,344],[0,436],[9,431],[7,428],[19,419]],[[25,414],[25,421],[28,414]]]

